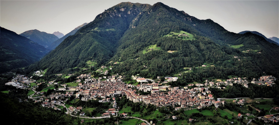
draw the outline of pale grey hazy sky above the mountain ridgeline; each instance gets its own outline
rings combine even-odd
[[[37,29],[64,35],[118,3],[119,0],[0,1],[0,26],[18,34]],[[258,31],[279,37],[279,1],[227,0],[129,0],[132,3],[162,2],[198,19],[211,19],[230,32]]]

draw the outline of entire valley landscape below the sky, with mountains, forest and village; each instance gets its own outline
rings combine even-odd
[[[1,27],[0,55],[11,124],[279,120],[278,44],[160,2],[119,3],[65,36]]]

